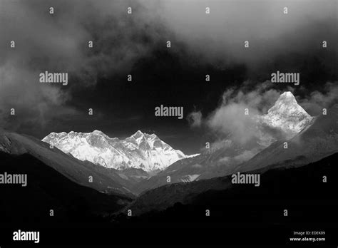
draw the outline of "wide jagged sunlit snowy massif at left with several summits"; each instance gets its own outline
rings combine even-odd
[[[101,131],[94,130],[92,133],[51,133],[42,141],[79,160],[118,170],[130,167],[147,172],[163,170],[173,162],[189,157],[171,148],[157,135],[140,130],[124,140],[109,138]]]

